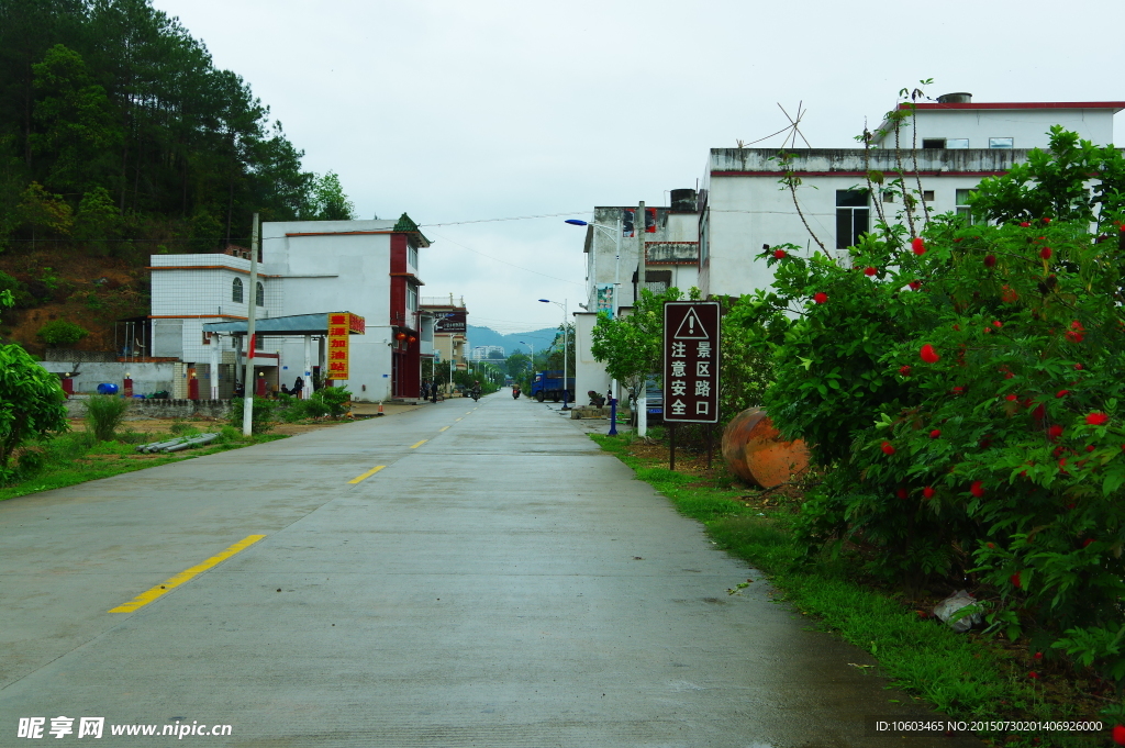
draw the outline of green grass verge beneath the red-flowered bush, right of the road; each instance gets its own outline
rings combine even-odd
[[[1099,719],[1092,713],[1072,713],[1063,703],[1043,697],[1043,687],[1026,675],[1032,669],[987,638],[953,632],[933,619],[922,619],[883,591],[854,577],[855,565],[828,553],[808,557],[793,532],[792,507],[759,508],[739,501],[745,488],[702,485],[698,476],[651,467],[652,460],[629,453],[630,438],[591,434],[603,450],[633,468],[637,478],[667,496],[677,511],[700,521],[708,534],[727,552],[770,576],[796,611],[820,629],[870,652],[883,675],[915,699],[928,702],[952,718],[996,720]],[[892,701],[889,697],[889,701]],[[1112,720],[1104,720],[1109,728]],[[1077,733],[1012,733],[982,736],[1005,746],[1104,745],[1095,736]],[[1040,742],[1033,742],[1033,738]]]

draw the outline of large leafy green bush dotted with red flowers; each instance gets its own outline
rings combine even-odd
[[[772,263],[764,405],[827,469],[810,549],[911,585],[975,574],[992,627],[1125,681],[1125,234],[1102,231],[1125,216],[1125,160],[1069,137],[981,184],[973,215],[994,224],[880,226],[849,256]]]

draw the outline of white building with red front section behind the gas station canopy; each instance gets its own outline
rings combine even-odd
[[[358,400],[416,397],[424,345],[418,249],[429,245],[405,214],[397,222],[266,223],[255,289],[249,288],[250,260],[241,256],[152,255],[152,355],[183,361],[183,379],[197,376],[206,393],[213,385],[210,346],[219,345],[214,384],[220,397],[230,396],[233,381],[222,364],[236,368],[241,379],[241,340],[207,337],[205,323],[246,319],[251,299],[258,318],[351,312],[364,317],[366,334],[351,336],[350,375],[335,384],[349,387]],[[303,335],[259,335],[255,370],[271,388],[291,386],[304,376],[305,350]],[[322,339],[315,344],[314,367],[325,360]],[[188,396],[187,385],[182,390],[173,397]]]

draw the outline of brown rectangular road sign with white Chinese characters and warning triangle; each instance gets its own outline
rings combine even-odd
[[[664,304],[664,420],[719,422],[719,303]]]

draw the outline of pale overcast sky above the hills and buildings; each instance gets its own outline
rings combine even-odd
[[[251,84],[306,169],[340,174],[359,217],[423,225],[423,296],[464,295],[503,332],[559,324],[539,298],[585,300],[585,234],[565,217],[667,205],[708,148],[785,126],[777,102],[804,102],[813,147],[852,147],[925,78],[975,101],[1125,100],[1119,0],[154,4]],[[549,214],[566,216],[452,225]]]

